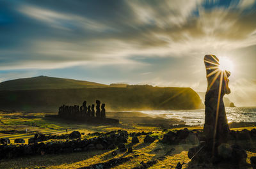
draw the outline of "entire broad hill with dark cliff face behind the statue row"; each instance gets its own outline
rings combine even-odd
[[[79,85],[74,85],[75,82],[79,82]],[[84,100],[91,105],[96,99],[106,103],[108,111],[203,107],[198,94],[189,87],[151,85],[111,87],[93,82],[51,77],[23,78],[0,83],[1,109],[57,112],[60,105],[80,105]]]

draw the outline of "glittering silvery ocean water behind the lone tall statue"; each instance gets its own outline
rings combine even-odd
[[[186,122],[187,125],[203,125],[204,109],[196,110],[147,110],[139,111],[148,115],[161,115],[166,119],[176,118]],[[228,122],[256,122],[255,107],[227,107],[226,108]]]

